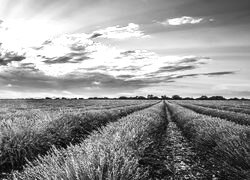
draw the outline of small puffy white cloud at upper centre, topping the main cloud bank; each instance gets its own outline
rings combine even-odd
[[[94,31],[90,38],[107,38],[107,39],[128,39],[128,38],[143,38],[148,37],[140,30],[138,24],[129,23],[127,26],[111,26],[105,29]]]

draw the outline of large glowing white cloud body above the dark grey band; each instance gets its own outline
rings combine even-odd
[[[131,81],[195,69],[208,60],[207,57],[161,57],[148,50],[124,50],[95,42],[87,34],[73,34],[46,40],[39,48],[29,49],[26,58],[14,68],[39,71],[52,77],[101,73]]]

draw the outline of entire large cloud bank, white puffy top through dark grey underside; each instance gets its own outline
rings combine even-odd
[[[138,25],[131,23],[92,34],[66,34],[44,39],[39,45],[22,48],[23,54],[5,47],[0,51],[0,65],[4,67],[0,69],[0,84],[22,92],[57,90],[75,94],[76,91],[106,90],[125,93],[155,83],[173,82],[181,78],[177,77],[181,73],[190,74],[189,71],[211,60],[112,47],[97,42],[98,37],[125,39],[145,37],[145,34]]]

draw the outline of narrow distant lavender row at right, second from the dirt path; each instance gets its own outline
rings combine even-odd
[[[219,117],[222,119],[226,119],[241,125],[250,125],[250,115],[243,113],[235,113],[230,111],[224,111],[219,109],[212,109],[209,107],[202,107],[198,105],[192,105],[187,103],[179,103],[181,106],[191,109],[197,113]]]

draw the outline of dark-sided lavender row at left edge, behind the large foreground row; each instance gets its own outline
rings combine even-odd
[[[64,114],[48,123],[37,124],[36,128],[15,129],[8,124],[5,127],[2,125],[0,129],[0,171],[3,173],[20,169],[27,160],[31,161],[38,155],[45,154],[52,146],[66,147],[69,143],[77,143],[91,131],[106,123],[147,108],[152,104],[152,102],[148,102],[110,110]]]

